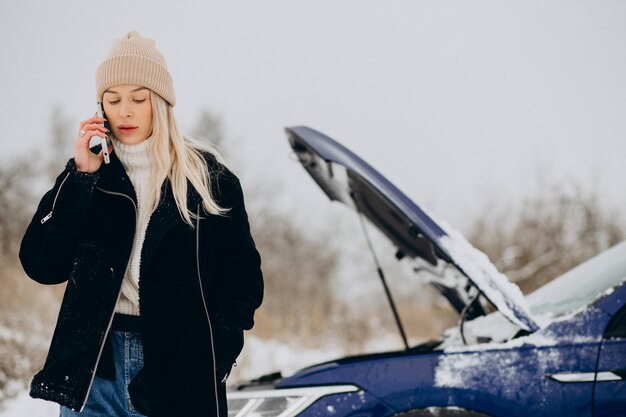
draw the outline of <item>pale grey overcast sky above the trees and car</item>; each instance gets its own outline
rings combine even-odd
[[[285,177],[294,207],[324,198],[289,158],[292,125],[459,227],[537,176],[626,207],[625,22],[622,0],[0,0],[0,161],[46,142],[54,104],[76,126],[93,114],[97,65],[138,30],[182,127],[220,116],[245,175]]]

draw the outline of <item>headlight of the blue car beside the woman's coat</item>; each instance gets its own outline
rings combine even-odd
[[[331,394],[359,391],[354,385],[228,392],[229,417],[295,416],[318,399]]]

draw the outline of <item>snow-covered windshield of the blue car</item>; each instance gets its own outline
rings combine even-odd
[[[533,315],[560,316],[589,305],[626,279],[626,241],[528,295]]]

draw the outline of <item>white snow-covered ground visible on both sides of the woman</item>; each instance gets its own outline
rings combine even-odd
[[[304,366],[331,360],[342,354],[343,351],[339,348],[302,349],[302,347],[247,336],[244,352],[237,361],[239,366],[234,369],[230,381],[238,383],[279,370],[283,372],[283,375],[288,375]],[[30,398],[26,391],[17,398],[7,401],[5,408],[0,410],[0,417],[56,417],[58,415],[57,404]]]

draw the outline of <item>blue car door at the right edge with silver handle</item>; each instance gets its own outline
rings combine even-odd
[[[626,417],[626,306],[604,332],[594,388],[594,415]]]

